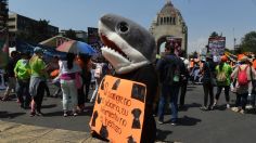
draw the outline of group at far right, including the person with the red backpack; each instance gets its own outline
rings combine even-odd
[[[204,106],[202,109],[214,109],[219,100],[221,91],[225,91],[227,108],[244,114],[246,105],[255,108],[255,65],[254,57],[244,55],[238,60],[236,64],[232,64],[227,55],[222,55],[220,62],[214,63],[213,56],[207,55],[206,62],[202,67],[203,87],[204,87]],[[214,96],[214,88],[217,88]],[[235,104],[230,105],[230,91],[236,94]],[[248,98],[249,96],[249,98]],[[209,104],[208,102],[209,98]],[[249,102],[248,102],[249,101]]]

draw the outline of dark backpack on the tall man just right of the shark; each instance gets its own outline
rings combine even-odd
[[[165,75],[165,79],[164,79],[164,83],[171,86],[175,83],[179,83],[180,82],[180,67],[177,64],[177,62],[167,62],[167,64],[164,67],[164,75]]]

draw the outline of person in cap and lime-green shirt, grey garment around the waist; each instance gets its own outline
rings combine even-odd
[[[47,81],[47,65],[42,61],[43,50],[39,47],[34,49],[34,55],[29,60],[29,66],[31,69],[29,93],[31,95],[31,112],[30,116],[42,115],[41,104],[46,90]]]

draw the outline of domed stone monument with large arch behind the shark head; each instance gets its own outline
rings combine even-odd
[[[188,27],[178,9],[167,1],[152,22],[151,34],[155,37],[157,53],[164,52],[166,44],[172,44],[176,52],[188,49]]]

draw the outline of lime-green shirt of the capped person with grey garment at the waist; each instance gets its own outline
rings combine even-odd
[[[29,61],[29,65],[31,68],[31,76],[43,77],[43,78],[47,77],[46,73],[43,72],[47,65],[38,55],[33,55],[33,57]]]

